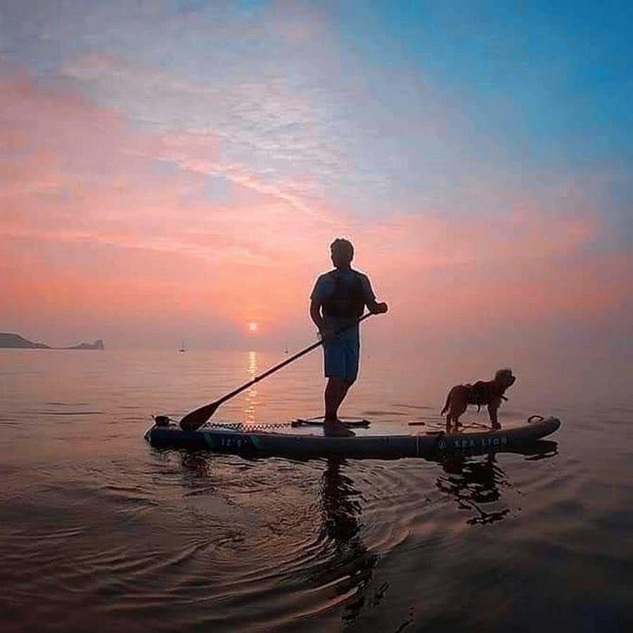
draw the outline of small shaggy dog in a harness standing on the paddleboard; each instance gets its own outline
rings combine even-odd
[[[446,416],[446,432],[451,433],[457,430],[459,425],[459,416],[466,411],[468,404],[476,404],[478,411],[482,405],[488,407],[488,416],[492,428],[499,429],[501,424],[497,419],[497,409],[501,405],[501,400],[507,400],[505,397],[506,390],[516,382],[516,376],[513,376],[512,370],[509,368],[499,369],[494,374],[492,381],[478,381],[474,385],[455,385],[448,392],[444,409],[440,412]]]

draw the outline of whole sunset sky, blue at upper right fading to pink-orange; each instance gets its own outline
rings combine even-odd
[[[299,350],[346,237],[372,350],[630,366],[632,58],[622,1],[2,0],[0,331]]]

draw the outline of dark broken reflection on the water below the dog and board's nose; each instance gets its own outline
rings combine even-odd
[[[557,454],[557,447],[556,442],[539,440],[517,452],[532,460],[546,459]],[[509,513],[509,508],[491,511],[482,509],[482,504],[498,503],[501,500],[501,487],[510,485],[506,473],[497,463],[496,454],[490,453],[480,459],[450,455],[442,458],[440,463],[446,476],[437,478],[436,486],[455,497],[459,509],[475,511],[475,516],[466,521],[468,525],[495,523]]]

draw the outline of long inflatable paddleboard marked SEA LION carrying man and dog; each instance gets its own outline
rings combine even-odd
[[[551,435],[561,421],[530,416],[528,421],[508,423],[500,430],[465,427],[460,433],[427,430],[409,423],[348,421],[353,437],[324,435],[322,423],[298,418],[291,423],[209,423],[198,430],[182,430],[167,416],[155,417],[145,439],[159,448],[210,450],[247,456],[292,457],[425,457],[433,454],[481,454],[521,449]],[[360,423],[359,423],[360,422]]]

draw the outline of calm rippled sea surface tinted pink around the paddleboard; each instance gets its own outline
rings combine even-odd
[[[0,629],[631,630],[633,404],[530,402],[519,373],[502,411],[561,418],[547,450],[446,463],[143,441],[151,414],[180,416],[282,359],[0,350]],[[320,362],[313,352],[214,419],[321,414]],[[364,357],[342,412],[432,426],[450,384]]]

